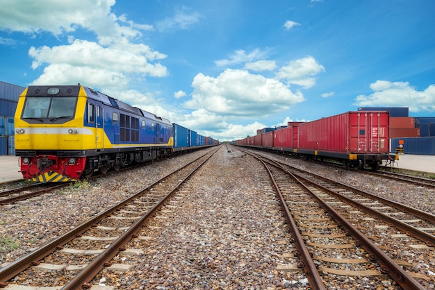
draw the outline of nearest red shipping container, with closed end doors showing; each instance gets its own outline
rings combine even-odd
[[[299,149],[388,153],[388,112],[345,112],[299,125]]]

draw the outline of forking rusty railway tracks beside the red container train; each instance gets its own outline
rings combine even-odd
[[[373,282],[377,279],[374,277],[384,279],[389,275],[395,281],[392,285],[402,289],[429,288],[432,278],[413,268],[421,260],[401,254],[397,246],[413,248],[431,264],[434,216],[404,212],[409,209],[400,205],[394,210],[392,203],[385,205],[384,201],[370,199],[370,194],[361,196],[361,191],[325,178],[314,180],[310,173],[295,173],[294,169],[290,172],[287,165],[259,158],[270,171],[292,228],[300,258],[290,259],[304,268],[313,289],[327,289],[324,287],[328,287],[331,277],[347,279],[355,275]],[[415,214],[419,214],[418,218]],[[414,226],[416,223],[420,223],[419,228]],[[433,273],[434,266],[429,268]]]

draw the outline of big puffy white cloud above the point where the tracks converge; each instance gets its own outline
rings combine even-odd
[[[197,74],[192,87],[186,108],[204,108],[231,117],[267,116],[304,101],[301,92],[291,92],[279,80],[241,69],[226,69],[217,78]]]

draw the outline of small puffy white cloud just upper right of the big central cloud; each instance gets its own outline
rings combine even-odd
[[[281,67],[276,74],[279,80],[287,80],[289,84],[301,85],[304,88],[313,87],[315,78],[313,76],[325,71],[325,67],[320,65],[312,56],[292,60],[288,65]]]

